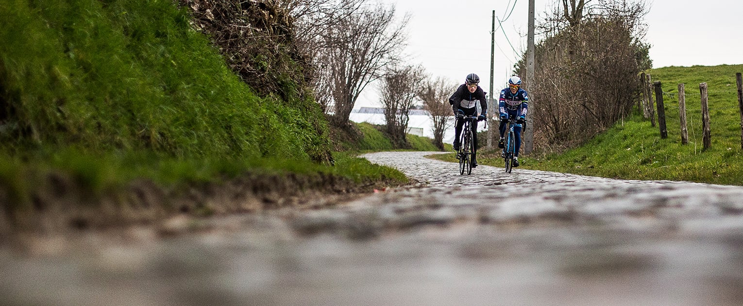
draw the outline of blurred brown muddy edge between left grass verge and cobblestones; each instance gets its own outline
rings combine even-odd
[[[12,192],[0,188],[0,202],[7,204],[0,205],[0,247],[34,253],[33,244],[39,241],[73,241],[95,233],[127,240],[132,231],[149,232],[149,238],[204,232],[221,227],[219,220],[233,215],[328,208],[392,186],[400,184],[387,178],[359,183],[322,173],[250,174],[170,189],[138,180],[93,194],[74,179],[48,175],[31,195],[30,205],[21,208],[9,204],[16,200]],[[60,247],[58,243],[52,249]]]

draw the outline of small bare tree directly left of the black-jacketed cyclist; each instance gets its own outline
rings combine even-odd
[[[424,109],[431,117],[433,142],[441,150],[444,150],[444,132],[454,124],[449,97],[456,89],[457,84],[441,76],[424,79],[418,88],[418,98],[423,100]]]

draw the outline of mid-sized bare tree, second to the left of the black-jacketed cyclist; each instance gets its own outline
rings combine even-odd
[[[410,109],[416,102],[415,88],[425,77],[421,66],[389,68],[382,78],[380,97],[384,106],[386,131],[398,148],[408,147],[406,133]]]

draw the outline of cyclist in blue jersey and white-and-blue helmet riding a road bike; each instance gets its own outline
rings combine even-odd
[[[516,136],[515,145],[513,151],[513,166],[519,166],[519,148],[521,147],[521,131],[522,126],[526,123],[526,112],[529,106],[529,96],[525,90],[521,89],[521,78],[519,76],[511,76],[508,79],[508,88],[501,91],[501,97],[498,102],[498,107],[501,117],[501,140],[498,142],[498,147],[503,149],[503,136],[506,131],[506,123],[508,118],[516,119],[516,125],[513,126],[513,132]]]

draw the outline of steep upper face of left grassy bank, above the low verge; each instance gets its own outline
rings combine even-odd
[[[329,149],[314,101],[257,96],[172,1],[1,5],[0,39],[12,43],[0,45],[10,113],[0,140],[10,152],[320,160]]]

